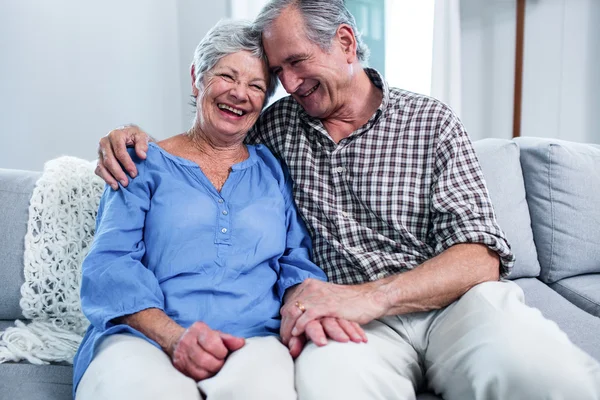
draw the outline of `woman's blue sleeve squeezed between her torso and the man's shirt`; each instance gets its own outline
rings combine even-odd
[[[286,202],[287,238],[285,253],[279,259],[277,293],[283,302],[285,291],[308,278],[327,280],[325,272],[311,261],[312,244],[306,225],[298,214],[292,197],[291,179],[285,170],[285,187],[282,188]]]

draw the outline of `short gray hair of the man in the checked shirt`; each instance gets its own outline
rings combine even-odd
[[[308,39],[321,49],[329,51],[338,27],[346,24],[354,31],[359,61],[366,63],[369,60],[369,48],[362,40],[356,21],[344,5],[344,0],[271,0],[256,17],[256,29],[262,32],[290,6],[300,11]]]

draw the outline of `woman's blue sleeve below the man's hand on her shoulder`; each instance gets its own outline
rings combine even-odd
[[[111,327],[114,318],[148,308],[164,309],[156,276],[142,263],[151,191],[144,162],[136,164],[139,175],[127,187],[115,191],[106,186],[94,241],[82,265],[82,311],[99,331]]]

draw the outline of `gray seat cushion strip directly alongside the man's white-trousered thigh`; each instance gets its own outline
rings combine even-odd
[[[537,278],[517,279],[515,283],[523,289],[527,305],[556,322],[575,345],[600,361],[600,318],[575,306]]]

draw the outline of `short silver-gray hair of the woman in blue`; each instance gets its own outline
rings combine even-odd
[[[248,51],[265,63],[268,72],[265,95],[265,104],[267,104],[277,89],[277,77],[269,70],[267,57],[261,45],[261,32],[256,30],[250,21],[219,21],[204,35],[194,51],[191,65],[196,74],[194,86],[200,89],[204,74],[210,71],[223,57],[239,51]],[[192,105],[196,107],[195,98],[192,100]]]

